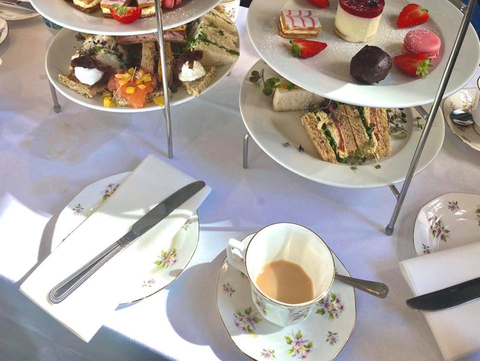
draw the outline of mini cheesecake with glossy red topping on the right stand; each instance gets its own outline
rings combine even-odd
[[[384,5],[384,0],[340,0],[335,15],[335,33],[350,42],[372,40]]]

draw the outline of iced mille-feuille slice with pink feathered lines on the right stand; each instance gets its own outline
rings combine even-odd
[[[286,38],[316,37],[321,31],[318,14],[311,10],[281,10],[278,33]]]

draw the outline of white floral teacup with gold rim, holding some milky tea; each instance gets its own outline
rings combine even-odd
[[[313,305],[326,295],[335,275],[333,257],[316,233],[294,223],[275,223],[260,229],[248,245],[229,239],[228,262],[245,273],[250,281],[251,297],[267,321],[287,326],[304,320]],[[256,284],[263,267],[276,260],[299,264],[312,280],[313,298],[303,303],[285,303],[266,295]]]

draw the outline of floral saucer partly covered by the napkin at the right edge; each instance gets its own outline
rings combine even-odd
[[[445,193],[423,205],[413,227],[416,255],[480,239],[480,194]]]

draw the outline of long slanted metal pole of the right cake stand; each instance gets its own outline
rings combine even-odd
[[[458,30],[458,34],[456,35],[455,43],[453,44],[450,57],[448,58],[448,61],[446,63],[445,71],[443,72],[443,75],[440,80],[440,84],[438,85],[438,90],[436,91],[435,97],[433,99],[433,104],[431,106],[430,112],[427,113],[420,106],[415,107],[415,109],[420,113],[420,115],[422,115],[423,118],[426,118],[427,120],[426,120],[425,127],[421,132],[420,140],[418,141],[418,145],[416,146],[415,153],[413,154],[410,167],[408,168],[408,172],[406,173],[405,181],[403,182],[401,191],[397,196],[397,201],[395,204],[395,208],[393,209],[390,222],[385,227],[385,233],[387,235],[391,235],[393,233],[393,228],[395,226],[396,218],[398,217],[398,213],[400,212],[400,208],[403,204],[403,200],[405,199],[406,192],[410,185],[411,178],[413,177],[413,173],[415,172],[415,168],[418,163],[418,159],[420,158],[421,152],[423,150],[423,146],[425,145],[431,126],[433,125],[433,119],[435,118],[436,112],[438,111],[438,107],[440,106],[441,99],[443,98],[443,93],[445,92],[446,85],[448,84],[448,79],[450,78],[451,71],[453,69],[453,66],[455,65],[455,61],[458,56],[458,52],[460,51],[463,38],[465,37],[468,24],[470,23],[471,15],[473,13],[473,8],[475,4],[476,4],[476,0],[468,0],[468,5],[464,10],[463,19],[461,20],[460,29]]]

